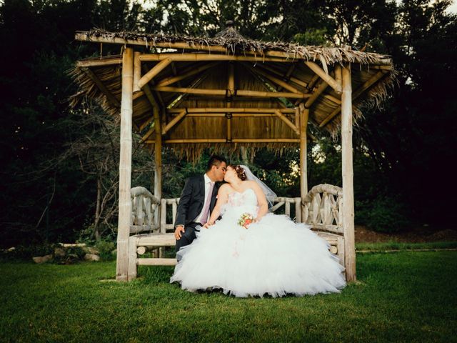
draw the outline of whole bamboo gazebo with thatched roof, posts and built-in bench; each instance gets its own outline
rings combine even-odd
[[[293,204],[296,221],[326,238],[346,279],[356,279],[352,126],[363,104],[380,104],[393,84],[388,56],[349,46],[253,41],[231,23],[214,38],[94,29],[76,32],[76,40],[123,48],[121,55],[78,61],[71,71],[80,86],[74,101],[89,96],[120,114],[116,279],[134,279],[139,264],[176,263],[156,254],[139,258],[146,249],[174,245],[166,213],[171,205],[174,217],[179,199],[162,199],[162,146],[194,160],[209,146],[299,146],[301,197],[278,198],[273,210],[284,205],[290,215]],[[333,136],[341,128],[342,189],[321,184],[308,191],[308,123]],[[132,129],[154,151],[154,195],[131,189]]]

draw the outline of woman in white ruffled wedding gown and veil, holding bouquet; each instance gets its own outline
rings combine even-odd
[[[236,297],[340,292],[343,267],[305,224],[268,213],[271,189],[246,166],[228,166],[209,222],[181,248],[170,282]],[[222,216],[220,220],[217,220]]]

